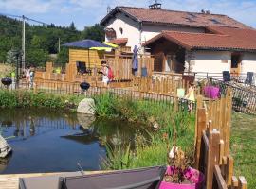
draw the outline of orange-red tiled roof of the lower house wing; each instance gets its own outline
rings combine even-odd
[[[164,38],[186,49],[212,49],[256,51],[256,30],[233,27],[210,26],[212,33],[191,33],[178,31],[163,31],[153,39],[144,43],[148,46]]]

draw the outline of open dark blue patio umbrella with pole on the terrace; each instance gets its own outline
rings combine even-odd
[[[95,41],[95,40],[81,40],[81,41],[76,41],[76,42],[71,42],[71,43],[64,43],[63,46],[67,47],[76,47],[76,48],[84,48],[88,49],[88,61],[89,61],[89,68],[90,68],[90,48],[92,47],[111,47],[107,44]]]

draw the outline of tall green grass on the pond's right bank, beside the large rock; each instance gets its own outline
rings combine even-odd
[[[133,100],[114,94],[95,96],[96,113],[100,116],[120,116],[133,122],[151,125],[152,119],[159,129],[150,133],[150,142],[137,134],[136,148],[131,146],[107,146],[108,159],[104,169],[125,169],[167,163],[168,144],[181,146],[192,157],[194,139],[194,115],[188,112],[174,112],[171,102],[154,100]],[[174,134],[175,133],[175,134]],[[164,136],[167,136],[166,139]]]

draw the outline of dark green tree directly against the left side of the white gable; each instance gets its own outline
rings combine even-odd
[[[91,39],[96,41],[104,41],[104,28],[96,24],[94,26],[84,27],[82,31],[83,39]]]

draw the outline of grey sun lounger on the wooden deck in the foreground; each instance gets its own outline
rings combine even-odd
[[[21,178],[19,189],[157,189],[165,171],[166,166],[155,166],[92,175],[75,172],[74,175]]]

